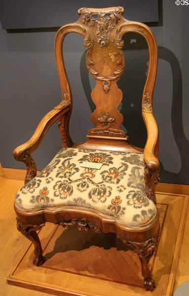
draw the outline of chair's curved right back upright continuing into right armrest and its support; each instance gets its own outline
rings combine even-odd
[[[142,114],[147,127],[148,140],[144,149],[145,186],[147,196],[155,203],[154,187],[159,181],[158,128],[153,115],[152,95],[157,72],[157,44],[150,28],[145,24],[126,21],[118,29],[120,37],[126,32],[136,32],[145,37],[149,47],[149,71],[145,83]]]

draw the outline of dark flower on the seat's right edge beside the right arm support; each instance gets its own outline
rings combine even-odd
[[[140,167],[133,167],[131,169],[131,174],[129,174],[127,186],[141,189],[145,192],[145,179],[144,175],[141,175],[142,168]]]

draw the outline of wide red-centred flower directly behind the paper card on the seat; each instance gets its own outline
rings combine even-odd
[[[78,161],[81,163],[83,161],[88,162],[100,162],[105,165],[112,164],[113,163],[113,157],[110,156],[110,154],[107,153],[101,153],[101,152],[95,152],[95,153],[89,153],[83,155],[82,158],[80,158]]]

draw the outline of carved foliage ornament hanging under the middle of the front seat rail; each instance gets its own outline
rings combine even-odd
[[[86,218],[83,219],[72,219],[70,221],[59,222],[57,223],[61,225],[64,229],[68,229],[69,227],[76,226],[78,230],[89,231],[90,228],[93,228],[95,232],[101,233],[102,229],[93,225],[91,222],[86,222]]]

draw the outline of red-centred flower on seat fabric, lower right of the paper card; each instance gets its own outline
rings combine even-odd
[[[118,184],[123,179],[123,176],[126,175],[125,171],[128,169],[126,163],[121,164],[119,168],[112,167],[108,171],[103,171],[101,173],[102,179],[108,183]]]

